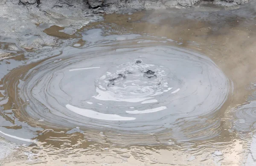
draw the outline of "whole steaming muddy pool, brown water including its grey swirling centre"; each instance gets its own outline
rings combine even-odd
[[[38,23],[62,42],[1,54],[1,163],[256,165],[253,6]]]

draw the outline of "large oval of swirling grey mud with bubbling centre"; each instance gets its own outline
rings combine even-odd
[[[199,53],[129,37],[92,38],[86,48],[67,47],[19,68],[12,81],[6,76],[18,90],[16,115],[44,128],[136,138],[130,143],[218,135],[229,81],[217,65]]]

